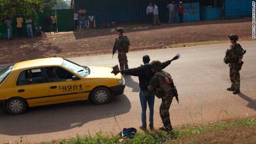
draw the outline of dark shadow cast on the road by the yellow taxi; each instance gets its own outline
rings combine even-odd
[[[21,115],[10,115],[0,109],[0,134],[10,136],[60,132],[81,127],[103,118],[128,113],[131,103],[126,95],[113,97],[108,104],[95,105],[85,101],[38,106]]]

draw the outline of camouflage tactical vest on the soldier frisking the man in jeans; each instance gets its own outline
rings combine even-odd
[[[159,71],[154,76],[160,76],[163,80],[163,84],[159,84],[156,88],[156,97],[163,98],[172,92],[171,78],[172,76],[165,71]]]

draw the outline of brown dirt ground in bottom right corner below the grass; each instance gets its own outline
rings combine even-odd
[[[235,126],[173,140],[170,144],[256,144],[256,125]]]

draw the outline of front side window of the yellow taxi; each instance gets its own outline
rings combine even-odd
[[[72,76],[74,76],[74,74],[60,67],[46,67],[45,70],[50,82],[72,80]]]

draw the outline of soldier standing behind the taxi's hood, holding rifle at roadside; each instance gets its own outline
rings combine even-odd
[[[130,40],[126,35],[124,35],[123,28],[116,29],[118,38],[116,40],[116,50],[118,50],[118,61],[120,64],[120,70],[128,69],[128,60],[126,53],[128,52],[130,46]]]

